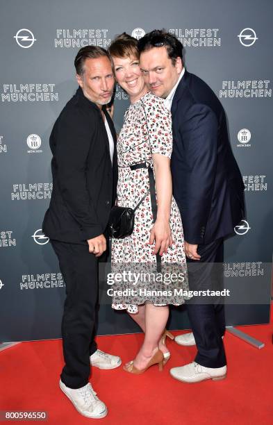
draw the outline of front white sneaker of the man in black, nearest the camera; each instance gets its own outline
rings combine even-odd
[[[91,417],[92,419],[99,419],[107,415],[106,405],[99,400],[97,392],[94,392],[90,383],[74,390],[73,388],[67,387],[60,380],[60,389],[74,404],[76,410],[78,410],[81,415]]]

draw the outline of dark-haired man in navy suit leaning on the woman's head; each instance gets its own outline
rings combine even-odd
[[[245,217],[244,185],[224,109],[213,90],[185,70],[183,45],[173,35],[151,31],[138,47],[147,85],[172,111],[173,192],[183,222],[190,287],[220,289],[224,237]],[[187,383],[224,378],[222,301],[203,299],[188,302],[187,308],[192,333],[179,335],[176,342],[196,343],[197,356],[194,362],[171,369],[171,375]]]

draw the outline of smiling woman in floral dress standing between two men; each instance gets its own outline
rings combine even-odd
[[[183,227],[176,201],[172,197],[170,157],[172,154],[172,117],[163,99],[148,91],[139,67],[137,40],[123,33],[109,48],[117,83],[129,94],[131,106],[126,110],[124,125],[117,140],[119,178],[117,205],[135,208],[133,233],[124,239],[112,239],[112,265],[154,264],[156,253],[162,265],[185,266]],[[154,169],[157,215],[153,221],[147,168],[130,165],[147,163]],[[186,289],[186,283],[181,283]],[[169,316],[167,304],[181,304],[183,297],[151,298],[143,303],[126,303],[124,297],[113,297],[113,308],[127,310],[144,331],[144,342],[135,360],[127,363],[127,372],[141,373],[153,364],[162,364],[170,354],[165,345],[165,326]],[[154,302],[153,302],[154,301]],[[172,336],[172,335],[168,335]]]

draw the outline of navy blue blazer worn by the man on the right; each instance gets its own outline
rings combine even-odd
[[[174,198],[185,241],[208,244],[245,217],[244,184],[231,151],[224,108],[185,70],[172,101]]]

